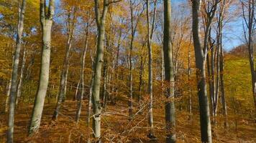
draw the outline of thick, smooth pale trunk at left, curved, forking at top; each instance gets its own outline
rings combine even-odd
[[[55,0],[49,1],[48,11],[46,11],[46,1],[40,0],[40,23],[42,28],[42,54],[41,54],[41,67],[40,79],[35,96],[32,117],[29,124],[29,134],[36,132],[40,127],[42,117],[42,110],[45,103],[45,95],[47,92],[49,82],[49,69],[50,69],[50,41],[52,19],[55,11]]]

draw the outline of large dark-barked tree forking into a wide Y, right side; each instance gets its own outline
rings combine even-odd
[[[211,29],[211,21],[214,18],[216,6],[219,0],[206,1],[204,11],[206,12],[206,26],[204,31],[204,44],[201,46],[199,31],[199,13],[201,9],[201,0],[192,1],[192,32],[193,46],[196,56],[196,79],[198,88],[198,101],[200,108],[200,125],[201,125],[201,142],[212,142],[211,139],[211,119],[209,110],[209,100],[206,87],[206,57],[209,46],[209,32]],[[211,7],[210,9],[208,9]]]

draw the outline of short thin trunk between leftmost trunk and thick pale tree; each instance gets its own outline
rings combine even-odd
[[[24,46],[24,48],[23,48],[23,57],[22,57],[22,68],[20,69],[19,84],[18,84],[18,88],[17,88],[16,104],[19,103],[19,98],[22,94],[22,82],[23,82],[23,73],[24,73],[25,64],[26,64],[26,49],[25,49],[25,46]]]

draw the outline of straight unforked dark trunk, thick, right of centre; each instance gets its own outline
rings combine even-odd
[[[165,62],[165,82],[168,84],[165,96],[165,122],[167,129],[166,142],[176,142],[175,135],[175,102],[174,102],[174,73],[173,73],[173,48],[170,42],[170,0],[164,1],[164,31],[163,31],[163,53]]]

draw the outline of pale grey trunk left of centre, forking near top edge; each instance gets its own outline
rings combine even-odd
[[[105,37],[105,21],[106,13],[108,11],[109,1],[104,0],[104,8],[102,14],[100,14],[99,0],[94,0],[95,3],[95,15],[98,30],[97,39],[97,49],[96,57],[94,60],[93,67],[93,87],[92,87],[92,97],[93,97],[93,135],[97,142],[101,142],[101,102],[100,102],[100,86],[101,86],[101,66],[104,62],[104,37]]]

